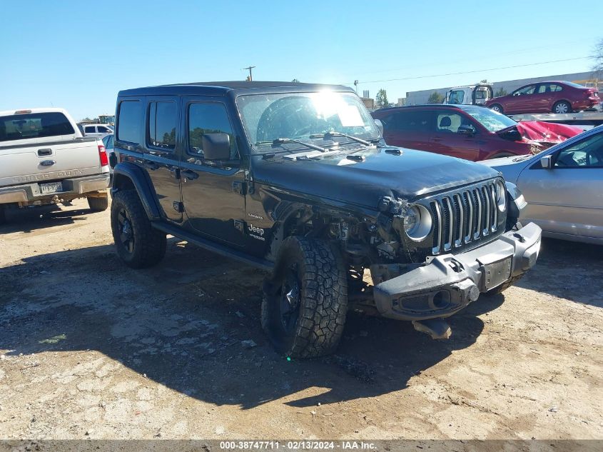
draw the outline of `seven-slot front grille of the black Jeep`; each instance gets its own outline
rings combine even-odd
[[[437,196],[429,206],[433,214],[434,255],[462,248],[497,231],[500,217],[494,181]]]

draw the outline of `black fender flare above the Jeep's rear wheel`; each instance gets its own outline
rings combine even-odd
[[[141,199],[148,219],[151,221],[161,219],[161,209],[159,209],[157,196],[147,172],[140,166],[127,161],[117,164],[113,169],[111,195],[126,188],[130,189],[131,186],[134,187],[138,198]]]

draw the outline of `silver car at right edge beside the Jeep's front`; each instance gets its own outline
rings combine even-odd
[[[517,184],[542,235],[603,244],[603,125],[534,156],[480,162]]]

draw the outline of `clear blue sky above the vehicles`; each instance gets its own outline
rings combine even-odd
[[[603,38],[600,9],[554,0],[29,0],[2,1],[0,14],[0,110],[63,106],[76,120],[113,111],[120,89],[241,80],[249,65],[255,80],[358,79],[390,101],[588,71],[579,58]],[[562,59],[573,60],[493,70]],[[467,71],[479,72],[440,75]]]

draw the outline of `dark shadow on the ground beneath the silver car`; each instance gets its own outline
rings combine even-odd
[[[543,238],[536,266],[515,285],[602,308],[602,255],[603,246]]]

